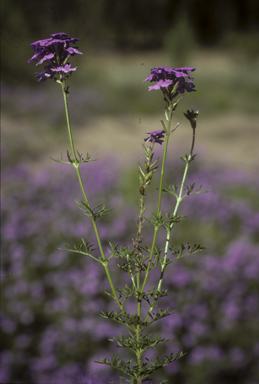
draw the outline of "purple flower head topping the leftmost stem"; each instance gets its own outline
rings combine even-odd
[[[71,68],[68,60],[71,56],[82,55],[77,47],[71,47],[79,39],[69,37],[67,33],[54,33],[50,35],[49,39],[38,40],[30,44],[34,49],[35,54],[32,56],[28,63],[33,61],[38,63],[36,65],[46,62],[48,65],[44,67],[42,72],[36,72],[38,81],[45,81],[47,79],[66,80],[75,68]],[[55,75],[59,74],[59,79]]]

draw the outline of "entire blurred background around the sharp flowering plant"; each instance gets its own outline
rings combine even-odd
[[[164,118],[161,94],[143,80],[157,66],[197,68],[197,92],[175,113],[167,177],[179,181],[179,156],[191,144],[183,112],[198,109],[190,180],[211,192],[183,206],[190,217],[175,242],[208,250],[166,281],[175,292],[166,304],[179,309],[161,325],[159,332],[172,331],[161,352],[188,352],[166,372],[170,383],[259,383],[258,1],[9,0],[1,16],[0,381],[102,384],[110,371],[91,362],[114,353],[107,339],[116,330],[98,315],[111,306],[100,289],[104,275],[57,250],[85,231],[93,237],[74,203],[81,197],[73,170],[49,159],[68,149],[61,89],[37,83],[41,69],[27,63],[29,44],[66,32],[83,52],[71,59],[77,71],[68,82],[76,148],[100,159],[82,172],[91,198],[115,208],[100,223],[107,243],[134,237],[141,143]]]

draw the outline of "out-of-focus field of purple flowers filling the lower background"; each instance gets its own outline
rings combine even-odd
[[[112,380],[109,371],[102,374],[103,367],[92,361],[111,356],[104,345],[123,330],[99,316],[103,309],[114,309],[102,294],[106,278],[100,265],[57,250],[64,242],[77,244],[80,237],[95,241],[90,223],[71,199],[81,199],[74,172],[63,164],[58,167],[55,173],[38,170],[33,177],[21,167],[2,175],[3,383],[104,384]],[[118,193],[119,169],[114,171],[114,161],[107,161],[105,167],[94,162],[82,169],[86,188],[91,185],[93,204],[108,199],[107,206],[116,208],[98,222],[102,239],[107,246],[109,240],[126,245],[127,239],[134,238],[136,212]],[[197,170],[188,182],[197,180],[211,192],[186,198],[181,213],[191,217],[191,228],[197,222],[199,240],[209,249],[165,271],[164,288],[172,294],[163,298],[164,306],[176,312],[157,322],[158,334],[170,338],[161,353],[188,352],[185,359],[168,366],[167,379],[259,382],[258,208],[235,197],[233,191],[244,191],[249,185],[242,174]],[[258,185],[250,185],[256,201]],[[174,244],[192,236],[186,221],[176,226]],[[126,275],[119,274],[116,265],[114,276],[116,286],[122,287]],[[133,312],[135,305],[131,305]],[[241,368],[245,376],[237,380]]]

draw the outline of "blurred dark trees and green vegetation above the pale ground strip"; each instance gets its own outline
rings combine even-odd
[[[88,115],[161,111],[162,98],[158,101],[156,92],[147,98],[148,84],[142,83],[156,66],[197,67],[193,75],[198,92],[192,95],[192,107],[202,109],[203,116],[257,113],[259,3],[180,3],[116,0],[111,7],[109,0],[75,0],[73,6],[67,0],[4,2],[3,112],[15,115],[17,105],[13,95],[6,97],[5,86],[20,93],[30,92],[28,86],[46,89],[34,76],[43,65],[27,63],[34,52],[29,44],[62,31],[78,37],[84,53],[71,59],[78,69],[69,84],[78,87],[81,95],[94,90],[102,100],[97,97],[89,104],[78,97]],[[54,88],[54,84],[48,86]]]

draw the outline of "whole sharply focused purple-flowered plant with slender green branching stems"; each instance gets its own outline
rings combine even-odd
[[[147,350],[150,348],[156,349],[159,344],[169,340],[162,339],[157,335],[153,336],[148,334],[147,328],[156,321],[172,315],[174,312],[169,308],[162,309],[158,306],[158,301],[169,295],[167,289],[163,287],[166,267],[184,256],[204,249],[200,244],[190,245],[189,243],[185,243],[181,244],[179,248],[171,244],[173,228],[184,219],[184,216],[179,213],[179,206],[182,200],[190,195],[202,193],[201,186],[195,191],[195,183],[191,185],[186,184],[190,163],[195,158],[193,150],[198,111],[187,110],[187,112],[184,113],[191,125],[192,141],[189,153],[181,156],[185,163],[181,184],[179,187],[176,186],[176,184],[164,184],[169,138],[179,125],[176,124],[172,128],[173,113],[184,93],[195,91],[193,78],[190,76],[190,73],[192,73],[195,68],[173,69],[157,67],[153,68],[150,75],[144,80],[154,83],[154,85],[149,86],[149,90],[160,90],[162,92],[165,101],[166,123],[161,120],[162,129],[147,132],[148,136],[144,138],[142,144],[145,161],[144,164],[139,164],[139,216],[137,220],[136,237],[133,239],[131,246],[119,246],[119,244],[110,242],[108,249],[109,256],[107,257],[102,239],[99,236],[98,220],[103,215],[110,214],[111,210],[102,204],[93,207],[87,197],[87,189],[84,187],[81,178],[80,165],[92,160],[88,153],[83,157],[82,153],[75,150],[67,104],[69,92],[66,81],[76,70],[76,68],[71,68],[69,60],[72,56],[81,55],[82,53],[74,46],[78,41],[77,38],[70,38],[66,33],[56,33],[50,36],[48,39],[39,40],[31,44],[35,54],[28,62],[31,63],[35,61],[37,63],[36,65],[42,64],[43,62],[47,64],[42,72],[36,72],[36,77],[39,82],[50,79],[61,85],[71,152],[67,151],[67,161],[63,160],[62,155],[60,160],[55,161],[72,165],[75,168],[83,196],[81,202],[77,202],[77,205],[92,221],[96,236],[95,244],[91,243],[89,239],[82,238],[79,244],[74,245],[74,248],[70,248],[70,246],[66,244],[65,250],[91,257],[103,266],[110,285],[110,289],[105,289],[105,293],[115,301],[116,309],[112,311],[103,310],[101,316],[125,326],[129,331],[127,335],[122,334],[119,338],[113,337],[110,340],[121,348],[131,350],[135,356],[133,360],[124,361],[122,358],[115,356],[113,359],[104,358],[96,362],[109,365],[121,371],[124,376],[120,376],[120,384],[125,382],[140,384],[144,381],[151,380],[152,374],[158,369],[184,356],[184,353],[181,352],[179,354],[171,353],[169,356],[165,356],[164,359],[157,357],[155,359],[144,359],[144,354]],[[154,149],[157,145],[164,145],[157,207],[151,217],[146,217],[144,216],[144,212],[146,209],[147,190],[153,180],[154,173],[158,169],[158,159],[154,159]],[[90,188],[90,186],[88,188]],[[163,192],[174,197],[174,205],[169,212],[163,212],[161,208]],[[145,244],[143,236],[143,228],[145,225],[148,225],[147,223],[153,227],[153,240],[149,245]],[[163,248],[157,246],[159,231],[161,231],[164,236]],[[98,248],[98,254],[94,253],[96,247]],[[117,265],[121,273],[129,276],[129,285],[126,284],[122,288],[115,287],[114,276],[112,276],[110,268],[110,262],[113,258],[117,259]],[[153,269],[158,270],[158,279],[157,281],[150,282],[150,272]],[[129,313],[127,304],[128,302],[132,303],[132,299],[135,312]],[[163,380],[157,384],[163,384],[165,382],[166,380]],[[111,384],[115,383],[111,382]]]

